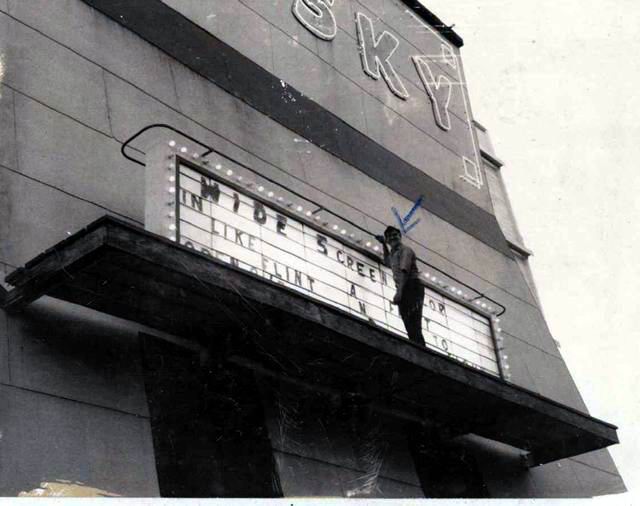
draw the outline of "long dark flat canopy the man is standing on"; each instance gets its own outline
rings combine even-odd
[[[520,448],[531,464],[618,443],[611,424],[112,217],[6,281],[8,311],[49,295],[197,341],[221,361]]]

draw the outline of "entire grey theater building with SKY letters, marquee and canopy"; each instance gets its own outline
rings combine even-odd
[[[0,0],[0,494],[624,491],[462,45],[412,0]]]

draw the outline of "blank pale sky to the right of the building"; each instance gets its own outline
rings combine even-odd
[[[463,37],[561,353],[640,487],[640,3],[424,0]],[[621,498],[618,498],[621,499]],[[629,497],[626,498],[629,500]]]

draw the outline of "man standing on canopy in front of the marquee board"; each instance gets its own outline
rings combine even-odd
[[[419,278],[416,254],[409,246],[402,244],[400,230],[395,227],[387,227],[384,236],[377,235],[376,239],[382,243],[385,265],[393,271],[393,281],[396,284],[393,304],[398,305],[409,339],[424,346],[422,336],[424,286]]]

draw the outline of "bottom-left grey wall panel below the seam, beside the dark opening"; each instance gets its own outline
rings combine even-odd
[[[0,386],[0,406],[0,495],[56,480],[158,495],[147,419],[9,386]]]

